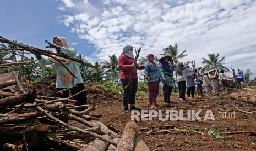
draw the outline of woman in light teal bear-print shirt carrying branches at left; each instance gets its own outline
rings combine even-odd
[[[53,44],[49,44],[47,48],[54,48],[53,49],[54,53],[64,53],[72,57],[75,57],[75,55],[77,54],[77,50],[75,50],[75,48],[69,48],[67,40],[63,37],[53,37]],[[53,64],[55,66],[56,73],[57,73],[56,91],[72,88],[75,85],[78,85],[78,87],[71,90],[72,95],[77,94],[81,90],[84,90],[84,82],[83,82],[83,79],[81,78],[81,74],[80,74],[80,70],[77,62],[69,59],[65,59],[63,57],[55,56],[57,59],[62,60],[62,63],[77,77],[77,78],[74,78],[73,75],[71,75],[67,71],[67,69],[64,68],[56,60],[50,57],[45,59],[44,57],[41,57],[41,55],[38,53],[35,53],[35,56],[36,56],[36,59],[42,65]],[[61,98],[66,98],[68,96],[69,96],[69,91],[65,91],[61,95],[59,95],[59,97]],[[76,106],[87,104],[86,92],[83,92],[80,95],[75,96],[74,100],[78,101],[78,102],[75,102]]]

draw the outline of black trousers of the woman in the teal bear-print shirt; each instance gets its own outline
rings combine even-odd
[[[76,85],[78,85],[77,88],[74,88],[74,89],[70,90],[72,95],[75,95],[78,92],[80,92],[81,90],[85,89],[84,88],[84,83],[79,83],[79,84],[76,84]],[[65,88],[56,88],[56,91],[61,91],[63,89],[65,89]],[[67,98],[67,97],[69,97],[69,91],[62,92],[61,94],[58,94],[57,97]],[[77,102],[75,102],[75,106],[86,105],[87,104],[86,92],[83,92],[83,93],[81,93],[77,96],[74,96],[73,100],[77,100]]]

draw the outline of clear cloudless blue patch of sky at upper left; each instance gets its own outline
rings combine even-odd
[[[77,48],[78,53],[90,55],[95,50],[94,45],[80,39],[77,34],[70,33],[70,29],[59,22],[58,18],[66,14],[57,9],[60,3],[52,0],[1,0],[3,22],[0,24],[0,35],[40,48],[45,47],[45,39],[63,36],[67,38],[69,45]]]

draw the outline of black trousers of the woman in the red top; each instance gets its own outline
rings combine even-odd
[[[121,79],[123,88],[129,83],[129,79]],[[132,84],[123,90],[123,106],[128,107],[128,104],[135,105],[135,95],[138,88],[138,79],[133,79]]]

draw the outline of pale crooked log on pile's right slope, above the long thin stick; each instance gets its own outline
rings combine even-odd
[[[98,126],[100,126],[101,133],[104,133],[105,135],[108,135],[111,138],[121,137],[117,133],[115,133],[112,130],[108,129],[107,126],[105,126],[103,123],[101,123],[99,121],[97,121],[97,123],[96,123],[96,121],[87,121],[87,120],[85,120],[83,118],[80,118],[80,117],[77,117],[75,115],[69,115],[68,117],[70,119],[78,121],[79,123],[84,124],[84,125],[89,126],[89,127],[98,127]]]

